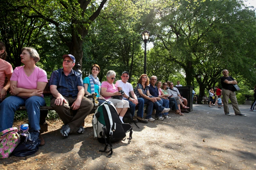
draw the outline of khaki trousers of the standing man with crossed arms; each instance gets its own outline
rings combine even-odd
[[[235,92],[232,92],[227,89],[222,89],[222,98],[223,98],[223,105],[224,105],[223,107],[224,107],[225,113],[229,113],[229,99],[231,101],[235,114],[241,113],[240,109],[238,108]]]

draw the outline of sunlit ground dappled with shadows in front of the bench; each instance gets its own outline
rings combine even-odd
[[[256,169],[256,113],[226,116],[211,108],[169,116],[138,123],[140,129],[132,123],[133,139],[114,143],[111,158],[98,151],[104,144],[94,139],[92,115],[84,134],[65,139],[61,120],[51,120],[37,153],[0,160],[0,169]]]

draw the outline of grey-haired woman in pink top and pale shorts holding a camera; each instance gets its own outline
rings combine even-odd
[[[119,100],[119,99],[113,99],[112,96],[115,95],[122,95],[120,92],[118,92],[117,86],[113,84],[115,80],[115,72],[110,70],[107,73],[107,81],[103,81],[101,83],[101,89],[100,93],[105,98],[110,100],[119,115],[120,120],[123,122],[123,117],[129,108],[129,102],[127,100]]]

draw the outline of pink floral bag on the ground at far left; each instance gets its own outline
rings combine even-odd
[[[20,143],[18,131],[16,127],[13,127],[0,132],[0,159],[8,158],[11,152]]]

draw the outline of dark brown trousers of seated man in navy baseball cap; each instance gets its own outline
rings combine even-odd
[[[64,96],[63,96],[64,97]],[[77,110],[77,114],[75,116],[71,116],[70,108],[72,108],[72,104],[77,100],[76,98],[72,97],[64,97],[68,103],[62,103],[62,105],[57,106],[54,104],[56,98],[54,97],[51,100],[51,106],[60,116],[60,119],[63,121],[64,124],[68,124],[71,130],[77,132],[81,124],[83,123],[86,116],[88,116],[93,109],[93,102],[86,97],[82,98],[81,105]]]

